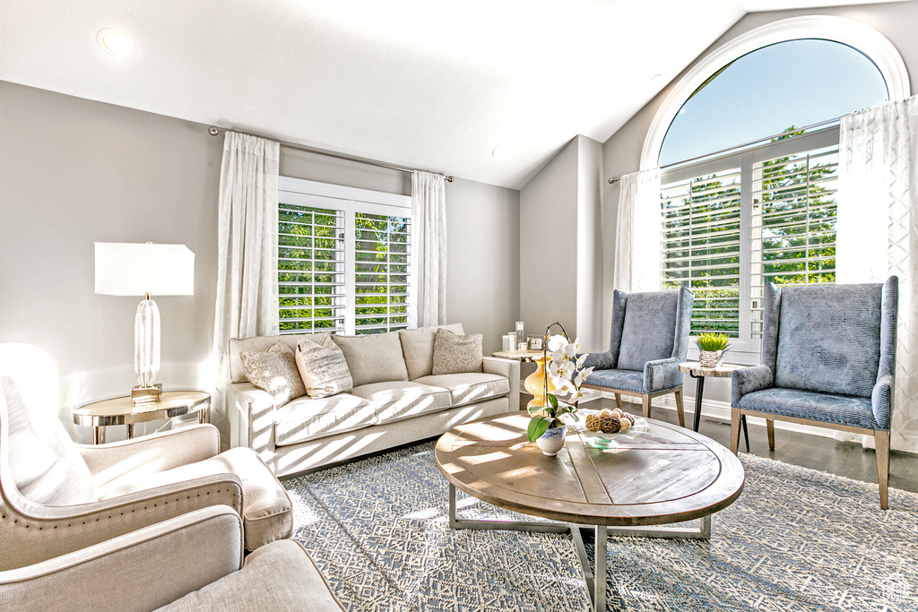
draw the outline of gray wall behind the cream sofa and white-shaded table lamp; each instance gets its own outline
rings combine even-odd
[[[0,341],[49,351],[72,406],[136,384],[139,298],[95,295],[95,241],[184,243],[195,295],[157,297],[164,388],[207,389],[217,270],[223,139],[207,126],[0,82]],[[448,169],[445,169],[448,170]],[[404,172],[282,149],[289,176],[409,194]],[[485,334],[486,351],[519,317],[519,193],[457,180],[446,190],[447,314]],[[123,435],[114,428],[109,439]]]

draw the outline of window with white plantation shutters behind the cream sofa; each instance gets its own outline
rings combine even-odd
[[[281,177],[282,334],[408,328],[410,198]]]

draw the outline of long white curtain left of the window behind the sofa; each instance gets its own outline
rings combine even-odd
[[[280,145],[227,132],[220,167],[217,303],[213,355],[217,389],[228,372],[230,338],[269,336],[277,330],[277,172]],[[225,414],[222,396],[214,398]]]

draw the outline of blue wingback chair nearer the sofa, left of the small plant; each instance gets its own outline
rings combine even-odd
[[[612,295],[612,328],[609,351],[590,353],[585,367],[595,369],[584,386],[641,398],[644,417],[650,417],[651,400],[657,395],[676,395],[679,425],[682,411],[682,373],[678,363],[689,351],[689,323],[695,295],[685,287],[678,291]]]

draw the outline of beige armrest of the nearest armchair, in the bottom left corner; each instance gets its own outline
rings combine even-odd
[[[241,563],[241,517],[211,506],[0,572],[0,608],[151,610],[236,572]]]

